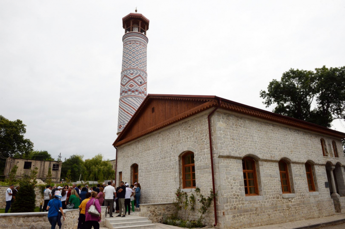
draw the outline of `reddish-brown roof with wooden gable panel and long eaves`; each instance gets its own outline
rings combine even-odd
[[[220,108],[224,110],[330,135],[339,139],[345,138],[345,133],[339,131],[250,107],[217,96],[148,94],[113,145],[120,146],[187,117],[206,111],[212,107],[217,107],[219,101],[221,101]]]

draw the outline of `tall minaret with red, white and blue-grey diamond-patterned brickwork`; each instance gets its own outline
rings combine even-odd
[[[125,128],[147,94],[146,31],[150,21],[142,14],[130,13],[122,18],[122,71],[117,134]]]

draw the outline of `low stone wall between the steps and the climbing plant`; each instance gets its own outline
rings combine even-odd
[[[140,203],[139,216],[148,217],[154,223],[162,223],[164,216],[176,213],[173,203]]]

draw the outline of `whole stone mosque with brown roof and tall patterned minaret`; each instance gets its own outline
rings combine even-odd
[[[205,215],[217,228],[345,213],[345,133],[217,96],[146,94],[149,20],[122,21],[115,180],[140,183],[140,214],[196,187],[217,193]]]

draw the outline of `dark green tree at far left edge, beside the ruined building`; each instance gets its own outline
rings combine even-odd
[[[19,119],[10,121],[0,115],[0,158],[7,158],[14,154],[29,154],[34,147],[29,139],[24,138],[26,125]],[[3,172],[5,159],[1,159],[0,171]]]

